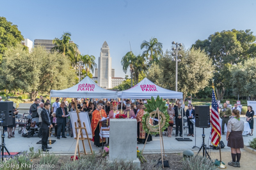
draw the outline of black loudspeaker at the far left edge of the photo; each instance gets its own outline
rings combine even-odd
[[[0,102],[0,126],[12,125],[13,101]]]

